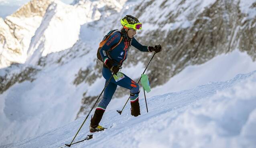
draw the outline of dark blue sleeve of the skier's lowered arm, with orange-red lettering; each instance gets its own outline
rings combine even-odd
[[[110,36],[110,38],[107,40],[107,42],[102,46],[102,48],[100,49],[100,55],[102,56],[102,60],[105,63],[106,60],[108,60],[108,56],[107,56],[107,52],[108,50],[110,50],[110,48],[119,42],[121,38],[121,34],[120,32],[115,32],[114,34],[112,34]]]

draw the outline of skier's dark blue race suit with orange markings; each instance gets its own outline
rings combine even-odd
[[[100,49],[100,55],[102,56],[104,62],[111,58],[112,60],[116,61],[116,63],[122,65],[122,63],[124,62],[124,60],[126,60],[128,56],[130,45],[134,46],[142,52],[148,52],[148,47],[141,45],[135,38],[132,38],[131,41],[128,41],[127,39],[123,38],[120,44],[118,44],[118,46],[116,46],[114,49],[110,51],[110,48],[113,45],[117,44],[120,41],[120,38],[121,33],[115,32],[110,36],[110,38],[107,40],[104,46],[102,46],[102,48]],[[106,83],[112,76],[112,72],[108,68],[106,68],[106,66],[103,66],[102,75],[106,79],[106,85]],[[131,102],[135,102],[136,100],[138,100],[138,92],[140,90],[139,85],[124,74],[124,77],[118,81],[116,81],[113,77],[111,78],[110,83],[104,91],[103,99],[101,100],[96,110],[106,110],[110,100],[114,95],[114,92],[116,91],[117,86],[127,88],[130,90],[130,93],[135,94],[134,96],[130,96]]]

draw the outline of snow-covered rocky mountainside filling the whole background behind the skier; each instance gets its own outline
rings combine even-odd
[[[126,14],[143,22],[138,41],[163,46],[146,72],[153,88],[149,97],[256,70],[255,4],[32,0],[0,18],[0,145],[38,136],[87,113],[104,87],[96,49],[109,30],[121,28]],[[138,80],[151,56],[132,48],[122,72]],[[128,94],[118,88],[114,98],[120,99],[113,99],[108,109],[121,108]]]

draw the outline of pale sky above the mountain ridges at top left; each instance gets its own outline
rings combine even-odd
[[[14,13],[20,6],[26,4],[30,0],[0,0],[0,17],[5,18],[6,16]],[[61,0],[66,4],[71,4],[73,0]]]

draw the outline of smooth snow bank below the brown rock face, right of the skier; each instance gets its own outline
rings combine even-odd
[[[216,56],[204,64],[187,66],[163,86],[154,88],[154,93],[149,93],[148,96],[191,89],[215,81],[224,81],[233,78],[236,74],[248,73],[252,70],[256,70],[256,62],[253,62],[245,52],[234,50],[230,54]]]

